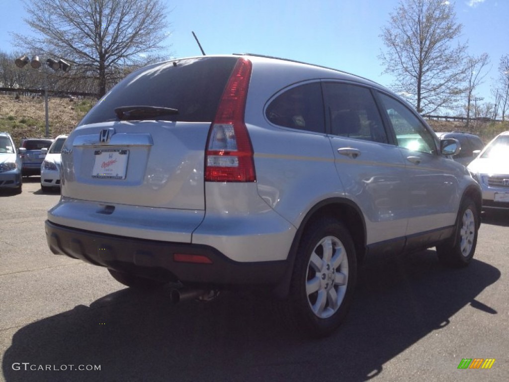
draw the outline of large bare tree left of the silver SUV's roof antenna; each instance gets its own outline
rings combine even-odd
[[[73,64],[72,76],[95,78],[98,94],[118,80],[123,67],[147,63],[168,36],[160,0],[23,0],[34,36],[14,34],[31,53]],[[154,57],[154,54],[150,57]],[[157,57],[159,59],[159,57]]]

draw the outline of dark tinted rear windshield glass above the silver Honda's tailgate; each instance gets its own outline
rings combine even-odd
[[[201,57],[139,69],[115,86],[79,125],[116,121],[115,108],[120,106],[169,107],[178,113],[165,115],[165,120],[211,122],[236,62],[235,57]]]

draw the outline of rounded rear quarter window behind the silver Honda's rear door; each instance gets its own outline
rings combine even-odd
[[[325,133],[324,108],[320,83],[291,88],[274,98],[265,116],[274,125]]]

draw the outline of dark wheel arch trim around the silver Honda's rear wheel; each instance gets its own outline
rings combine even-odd
[[[351,200],[346,198],[329,198],[317,203],[311,208],[302,219],[297,233],[293,239],[288,254],[288,268],[285,276],[274,288],[274,295],[277,298],[286,298],[290,290],[295,256],[306,229],[323,216],[331,216],[334,219],[345,222],[346,229],[350,232],[355,245],[357,262],[361,263],[366,252],[366,225],[360,208]]]

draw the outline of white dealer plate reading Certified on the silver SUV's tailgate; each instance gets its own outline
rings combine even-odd
[[[95,150],[92,178],[125,179],[129,150]]]

